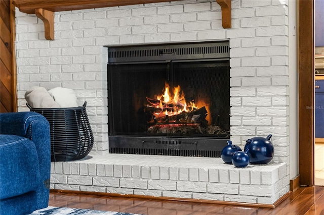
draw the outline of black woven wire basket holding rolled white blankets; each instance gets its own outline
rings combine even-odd
[[[26,105],[50,123],[52,162],[82,159],[89,154],[94,139],[86,110],[87,101],[78,108],[32,108],[28,103]]]

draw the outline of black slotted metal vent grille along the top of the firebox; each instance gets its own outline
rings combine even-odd
[[[228,42],[109,47],[109,64],[229,58]]]

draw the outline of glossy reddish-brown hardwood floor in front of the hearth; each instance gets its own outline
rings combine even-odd
[[[147,215],[208,214],[323,214],[324,187],[301,187],[276,208],[242,207],[211,203],[124,198],[73,193],[50,193],[50,206],[107,210]]]

